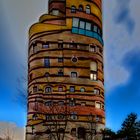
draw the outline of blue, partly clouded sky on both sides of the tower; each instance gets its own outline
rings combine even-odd
[[[104,0],[106,124],[118,130],[127,114],[140,116],[140,1]],[[28,28],[47,12],[47,0],[0,1],[0,122],[23,127],[26,111],[15,98],[26,75]]]

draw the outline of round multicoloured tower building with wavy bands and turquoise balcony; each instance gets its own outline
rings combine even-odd
[[[29,30],[26,140],[92,140],[105,125],[102,0],[49,0]]]

